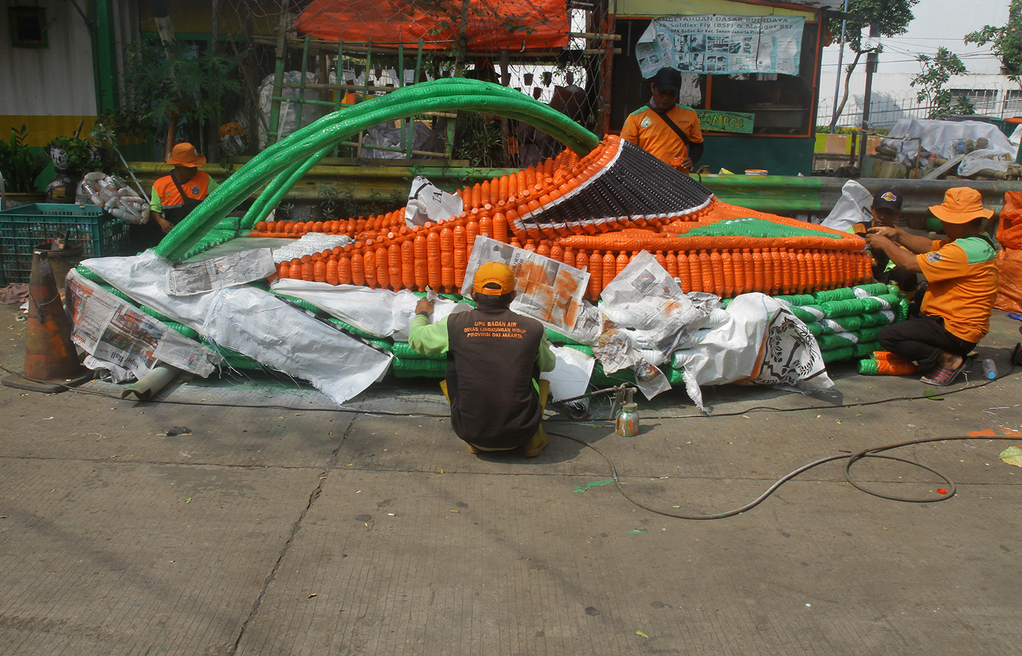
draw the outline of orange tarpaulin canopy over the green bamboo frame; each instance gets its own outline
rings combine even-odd
[[[464,0],[469,50],[551,50],[568,44],[565,0]],[[436,8],[444,7],[443,9]],[[327,41],[450,48],[458,38],[459,0],[313,0],[299,32]]]

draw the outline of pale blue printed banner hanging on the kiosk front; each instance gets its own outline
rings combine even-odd
[[[708,75],[796,75],[801,16],[661,16],[636,44],[644,78],[664,67]]]

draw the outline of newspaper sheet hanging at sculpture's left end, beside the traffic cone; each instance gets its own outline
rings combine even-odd
[[[199,376],[213,373],[220,356],[168,328],[76,272],[67,274],[72,341],[99,361],[141,378],[157,361]]]

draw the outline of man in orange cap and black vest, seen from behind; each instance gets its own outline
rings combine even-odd
[[[543,324],[509,310],[516,293],[511,268],[487,262],[472,280],[476,310],[429,323],[433,303],[415,307],[408,344],[448,355],[440,386],[451,425],[473,454],[521,448],[535,458],[549,441],[540,424],[549,384],[540,372],[554,368],[554,354]]]

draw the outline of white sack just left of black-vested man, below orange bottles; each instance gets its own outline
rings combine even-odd
[[[419,301],[419,297],[408,289],[390,291],[292,278],[277,280],[272,287],[278,293],[308,300],[359,330],[377,337],[392,337],[397,341],[408,341],[408,329]],[[468,303],[437,296],[433,300],[433,321],[471,309]]]

